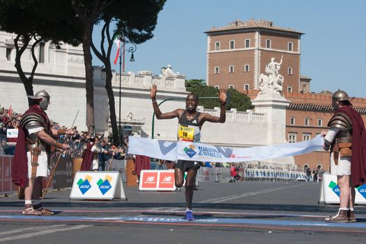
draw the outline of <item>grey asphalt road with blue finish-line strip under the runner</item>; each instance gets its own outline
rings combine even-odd
[[[183,220],[181,192],[139,192],[128,201],[70,201],[53,190],[44,205],[54,216],[23,216],[23,201],[0,198],[0,243],[363,243],[366,206],[358,222],[326,223],[335,205],[318,205],[320,183],[243,181],[200,183],[196,221]]]

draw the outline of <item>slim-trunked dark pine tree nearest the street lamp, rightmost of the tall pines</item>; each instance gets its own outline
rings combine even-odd
[[[91,48],[98,59],[105,66],[105,89],[109,100],[109,119],[111,120],[113,142],[119,142],[119,130],[116,123],[116,107],[112,89],[112,66],[110,62],[113,39],[123,39],[122,43],[144,43],[153,37],[153,30],[157,24],[158,13],[162,10],[166,0],[123,0],[117,1],[102,11],[100,22],[103,22],[101,31],[100,49],[91,42]],[[114,31],[111,25],[116,23]]]

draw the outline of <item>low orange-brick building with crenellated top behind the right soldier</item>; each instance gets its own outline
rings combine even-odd
[[[259,90],[243,91],[251,99],[257,98]],[[322,93],[291,93],[284,92],[284,98],[289,100],[286,109],[286,139],[287,142],[308,141],[328,130],[328,121],[333,116],[332,95],[330,91]],[[351,100],[353,107],[361,114],[366,124],[366,98]],[[295,164],[300,169],[329,169],[329,151],[315,151],[304,155],[294,156]]]

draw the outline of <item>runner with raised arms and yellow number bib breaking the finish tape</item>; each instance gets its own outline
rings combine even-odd
[[[226,119],[226,93],[224,89],[220,89],[218,96],[221,102],[220,117],[212,116],[207,113],[197,112],[198,97],[194,93],[188,94],[185,99],[185,109],[176,109],[173,112],[167,112],[162,114],[156,102],[157,86],[153,84],[150,89],[151,100],[153,101],[153,109],[157,119],[173,119],[178,118],[178,141],[187,142],[200,142],[201,128],[205,121],[213,123],[224,123]],[[187,177],[185,178],[185,204],[187,206],[185,212],[186,220],[193,221],[195,218],[192,213],[192,198],[193,187],[195,182],[195,176],[199,169],[199,162],[178,160],[174,164],[174,178],[177,188],[181,188],[184,181],[184,172],[187,171]]]

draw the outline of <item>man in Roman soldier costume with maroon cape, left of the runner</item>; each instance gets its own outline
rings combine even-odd
[[[48,174],[51,146],[60,151],[67,150],[70,146],[57,142],[52,136],[72,135],[73,130],[51,128],[45,113],[50,104],[46,91],[38,91],[35,96],[28,97],[33,100],[33,105],[24,112],[20,121],[11,176],[15,185],[24,188],[23,215],[53,215],[54,212],[43,208],[40,202],[42,179]]]

